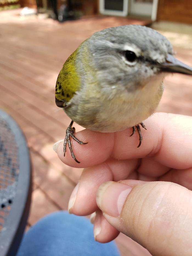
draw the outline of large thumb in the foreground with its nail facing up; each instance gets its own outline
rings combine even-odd
[[[191,255],[192,192],[171,182],[108,181],[97,204],[118,231],[156,255]]]

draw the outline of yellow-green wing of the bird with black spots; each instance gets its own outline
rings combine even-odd
[[[58,75],[55,86],[55,101],[56,104],[63,103],[57,104],[57,106],[64,107],[64,103],[69,102],[75,92],[80,89],[80,77],[75,67],[77,52],[78,49],[69,56]]]

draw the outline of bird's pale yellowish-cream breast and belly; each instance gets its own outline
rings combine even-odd
[[[129,92],[111,86],[110,90],[90,94],[66,109],[68,116],[79,125],[100,132],[116,132],[132,127],[151,116],[159,105],[163,94],[163,77],[151,78],[141,88]],[[81,94],[81,92],[79,93]],[[84,92],[85,94],[85,92]],[[95,94],[95,95],[94,95]],[[91,95],[91,96],[90,96]],[[78,99],[79,99],[78,95]],[[75,98],[75,97],[74,97]],[[76,114],[74,110],[76,108]]]

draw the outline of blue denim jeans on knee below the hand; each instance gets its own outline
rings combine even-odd
[[[93,225],[68,212],[51,213],[24,235],[16,256],[119,256],[114,241],[94,240]]]

